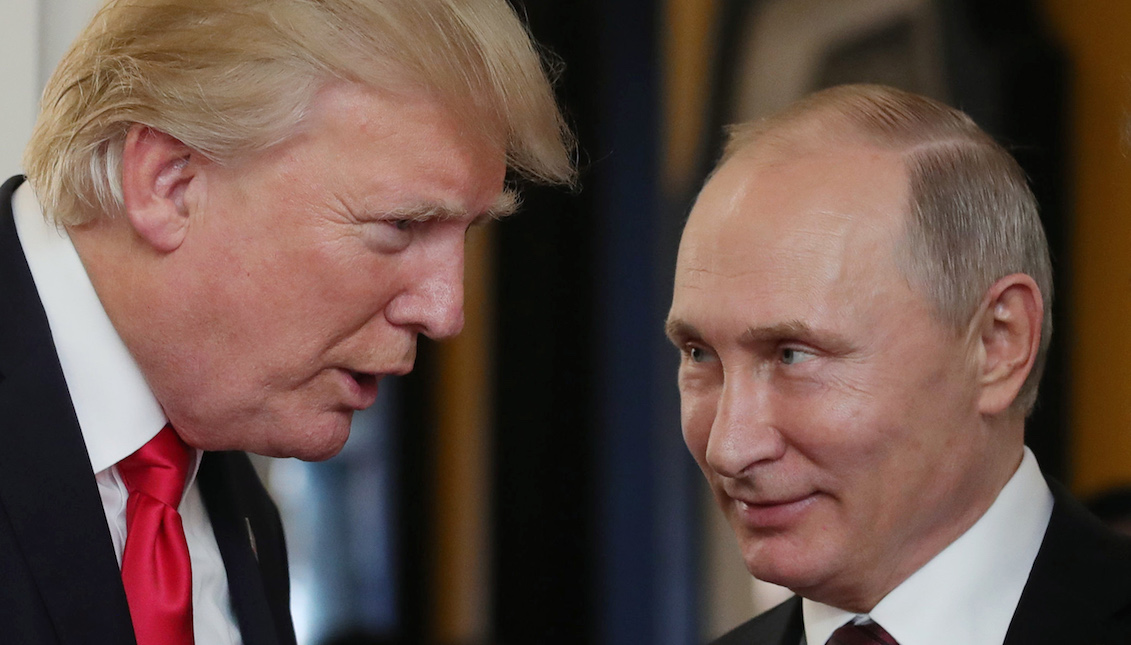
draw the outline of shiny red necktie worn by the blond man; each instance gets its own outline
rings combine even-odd
[[[192,568],[176,507],[192,450],[165,425],[118,463],[126,482],[122,584],[138,645],[193,645]]]

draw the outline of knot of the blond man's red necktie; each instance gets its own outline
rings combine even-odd
[[[165,425],[148,444],[118,464],[126,490],[147,494],[173,508],[181,505],[192,450]]]

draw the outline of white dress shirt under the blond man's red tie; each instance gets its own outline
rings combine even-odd
[[[16,190],[12,210],[121,567],[128,492],[115,464],[155,437],[167,420],[103,310],[70,238],[46,222],[27,183]],[[197,450],[179,508],[192,566],[192,628],[198,645],[240,645],[224,561],[196,481],[200,458]]]

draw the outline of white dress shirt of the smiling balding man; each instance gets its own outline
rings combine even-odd
[[[899,645],[1001,645],[1052,511],[1052,492],[1025,448],[1021,465],[974,526],[870,613],[803,600],[805,640],[823,645],[837,627],[871,618]]]

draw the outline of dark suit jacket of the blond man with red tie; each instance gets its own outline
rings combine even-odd
[[[46,315],[0,187],[0,642],[135,643],[126,592]],[[247,455],[198,474],[247,645],[293,645],[278,511]]]

